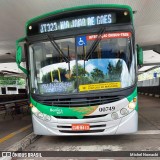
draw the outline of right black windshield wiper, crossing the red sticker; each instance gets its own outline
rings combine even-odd
[[[98,46],[99,42],[101,41],[102,39],[102,34],[105,32],[106,28],[101,28],[98,35],[97,35],[97,38],[95,39],[95,41],[92,43],[92,46],[90,47],[88,53],[87,53],[87,56],[85,57],[85,60],[88,60],[90,55],[94,52],[94,50],[96,49],[96,47]]]

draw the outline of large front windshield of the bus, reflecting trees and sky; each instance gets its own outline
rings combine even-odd
[[[97,39],[95,34],[31,44],[31,92],[84,93],[133,85],[131,33],[104,33]]]

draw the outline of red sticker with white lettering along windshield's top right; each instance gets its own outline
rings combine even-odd
[[[89,35],[87,36],[87,40],[95,40],[97,39],[98,35]],[[110,38],[129,38],[131,37],[130,32],[116,32],[116,33],[104,33],[102,34],[101,38],[102,39],[110,39]]]

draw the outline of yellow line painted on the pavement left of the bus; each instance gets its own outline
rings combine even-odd
[[[3,143],[4,141],[7,141],[8,139],[14,137],[15,135],[27,130],[28,128],[31,128],[32,127],[32,124],[30,125],[27,125],[26,127],[23,127],[21,129],[19,129],[18,131],[15,131],[15,132],[12,132],[10,134],[8,134],[7,136],[3,137],[3,138],[0,138],[0,143]]]

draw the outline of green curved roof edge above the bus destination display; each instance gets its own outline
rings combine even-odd
[[[131,20],[132,20],[132,23],[133,23],[133,11],[132,11],[132,8],[128,5],[120,5],[120,4],[94,4],[94,5],[84,5],[84,6],[76,6],[76,7],[71,7],[71,8],[64,8],[64,9],[60,9],[60,10],[55,10],[53,12],[49,12],[49,13],[46,13],[46,14],[43,14],[43,15],[40,15],[40,16],[37,16],[37,17],[34,17],[30,20],[28,20],[26,22],[26,35],[27,35],[27,27],[35,22],[35,21],[38,21],[38,20],[41,20],[43,18],[46,18],[48,16],[52,16],[54,14],[59,14],[59,13],[65,13],[67,11],[74,11],[74,10],[79,10],[79,9],[90,9],[90,8],[119,8],[119,9],[127,9],[129,10],[130,12],[130,15],[131,15]]]

